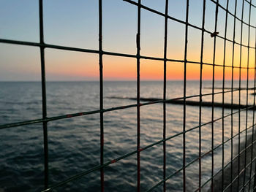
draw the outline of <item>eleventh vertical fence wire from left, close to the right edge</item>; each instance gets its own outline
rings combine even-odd
[[[249,23],[251,22],[251,9],[252,9],[252,0],[249,4]],[[248,26],[249,28],[249,26]],[[243,180],[243,191],[244,184],[246,179],[246,155],[247,155],[247,126],[248,126],[248,84],[249,84],[249,39],[250,39],[250,30],[248,30],[248,47],[247,47],[247,68],[246,68],[246,122],[245,122],[245,151],[244,151],[244,180]]]

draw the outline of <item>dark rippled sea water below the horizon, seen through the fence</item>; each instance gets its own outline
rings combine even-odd
[[[211,81],[203,81],[203,93],[211,93]],[[225,82],[227,88],[231,82]],[[140,82],[140,95],[145,98],[162,98],[163,82]],[[222,81],[215,82],[222,87]],[[246,81],[241,82],[243,88]],[[234,82],[238,88],[238,81]],[[249,87],[253,82],[249,81]],[[47,82],[48,117],[73,112],[99,110],[99,82]],[[167,99],[183,96],[182,81],[167,81]],[[222,90],[215,90],[221,92]],[[249,92],[249,104],[253,97]],[[187,81],[187,96],[199,94],[199,82]],[[120,99],[114,98],[118,97]],[[104,82],[104,108],[135,104],[136,82]],[[199,101],[199,97],[190,100]],[[211,101],[211,96],[203,96]],[[222,94],[214,96],[222,102]],[[233,103],[238,104],[238,91],[233,93]],[[225,93],[225,102],[231,102],[231,93]],[[246,91],[241,91],[241,104],[246,104]],[[42,93],[40,82],[0,82],[0,124],[42,118]],[[236,112],[237,110],[233,110]],[[183,105],[167,104],[167,137],[183,130]],[[231,110],[225,109],[225,115]],[[140,107],[140,145],[145,147],[162,139],[162,104]],[[246,128],[246,111],[241,115],[241,131]],[[249,110],[247,127],[252,126],[252,110]],[[214,119],[222,117],[222,108],[214,108]],[[233,134],[238,133],[238,113],[224,119],[225,140],[230,138],[231,118]],[[199,107],[187,106],[186,129],[198,126]],[[211,121],[211,107],[202,107],[202,123]],[[42,123],[0,130],[0,190],[40,191],[44,188]],[[248,134],[252,134],[249,129]],[[245,138],[245,134],[241,134]],[[120,155],[136,150],[137,113],[132,107],[104,113],[104,160],[110,161]],[[237,137],[233,139],[237,144]],[[214,146],[222,143],[222,120],[214,122]],[[99,114],[85,115],[48,123],[49,182],[50,185],[99,165]],[[186,162],[193,161],[199,153],[198,128],[186,134]],[[236,146],[236,145],[235,145]],[[166,174],[182,167],[183,135],[166,142]],[[211,123],[202,127],[202,154],[211,150]],[[234,154],[237,147],[234,147]],[[225,164],[230,161],[230,142],[225,144]],[[141,191],[162,180],[162,144],[140,153]],[[214,173],[222,164],[222,147],[214,150]],[[187,191],[198,188],[198,161],[186,169]],[[211,153],[202,158],[202,183],[211,177]],[[182,171],[167,180],[167,191],[183,190]],[[136,191],[136,154],[105,168],[105,191]],[[203,191],[207,191],[208,183]],[[99,171],[92,172],[59,188],[56,191],[99,191]],[[155,189],[162,191],[162,185]]]

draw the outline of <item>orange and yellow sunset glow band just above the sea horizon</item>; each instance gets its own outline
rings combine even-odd
[[[232,51],[232,50],[231,50]],[[215,58],[215,80],[222,80],[223,77],[223,50],[217,50]],[[235,50],[233,66],[240,65],[239,50]],[[255,53],[249,52],[249,67],[255,65]],[[58,55],[58,56],[57,56]],[[225,79],[232,79],[232,52],[227,53],[225,58]],[[160,57],[160,56],[159,56]],[[213,55],[204,53],[203,80],[211,80],[213,76],[212,64]],[[200,58],[190,56],[189,61],[199,62]],[[209,64],[209,65],[207,65]],[[242,49],[241,66],[247,66],[246,49]],[[75,53],[59,50],[49,50],[46,52],[46,70],[49,75],[76,77],[83,80],[97,80],[99,77],[98,56],[91,53]],[[249,79],[254,79],[254,69],[249,69]],[[140,60],[140,79],[141,80],[163,80],[164,62],[148,59]],[[137,61],[136,58],[123,58],[118,56],[103,56],[103,77],[105,80],[136,80]],[[247,70],[241,69],[241,80],[246,80]],[[184,79],[184,62],[167,61],[167,80]],[[187,79],[200,79],[200,64],[187,63]],[[233,79],[239,79],[239,69],[233,69]]]

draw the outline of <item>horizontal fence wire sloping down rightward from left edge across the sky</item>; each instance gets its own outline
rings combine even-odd
[[[148,60],[155,60],[155,61],[168,61],[168,62],[177,62],[177,63],[184,63],[184,60],[178,60],[178,59],[171,59],[171,58],[157,58],[157,57],[149,57],[149,56],[143,56],[143,55],[132,55],[132,54],[126,54],[126,53],[114,53],[109,51],[99,51],[99,50],[90,50],[85,48],[78,48],[78,47],[67,47],[67,46],[61,46],[61,45],[51,45],[51,44],[42,44],[39,42],[24,42],[24,41],[18,41],[18,40],[10,40],[10,39],[0,39],[1,43],[7,43],[7,44],[14,44],[14,45],[28,45],[28,46],[35,46],[35,47],[45,47],[45,48],[52,48],[52,49],[58,49],[58,50],[70,50],[70,51],[78,51],[83,53],[102,53],[102,55],[113,55],[113,56],[121,56],[121,57],[127,57],[127,58],[143,58]],[[253,47],[255,49],[255,47]],[[203,64],[208,66],[213,66],[211,63],[200,63],[200,61],[187,61],[189,64]],[[168,63],[167,63],[168,64]],[[214,66],[222,66],[221,64],[214,64]],[[225,66],[229,68],[236,68],[236,69],[255,69],[255,67],[246,67],[246,66]]]

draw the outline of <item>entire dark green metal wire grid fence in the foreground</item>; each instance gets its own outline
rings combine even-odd
[[[140,153],[143,150],[148,149],[149,147],[153,147],[154,145],[163,145],[163,175],[162,175],[162,180],[160,180],[156,185],[151,186],[151,188],[148,188],[148,191],[154,191],[159,185],[162,185],[162,191],[168,191],[166,188],[166,181],[169,180],[171,177],[175,176],[177,173],[182,172],[183,174],[183,191],[187,191],[187,186],[186,186],[186,169],[189,167],[191,164],[195,163],[196,161],[199,162],[199,177],[197,180],[199,181],[199,185],[197,187],[196,191],[201,191],[201,189],[207,185],[208,183],[211,183],[211,191],[214,191],[214,177],[217,176],[220,172],[222,172],[222,191],[227,191],[229,188],[232,188],[233,183],[241,183],[241,174],[244,174],[243,181],[242,181],[242,186],[239,188],[239,191],[244,191],[249,185],[249,190],[250,186],[253,185],[253,189],[256,188],[256,166],[255,170],[252,170],[252,164],[255,163],[255,158],[253,158],[253,155],[251,155],[251,159],[249,161],[249,164],[244,164],[244,167],[240,167],[240,161],[241,161],[241,153],[253,153],[253,147],[255,144],[255,139],[254,139],[254,134],[252,134],[252,142],[250,144],[246,143],[244,150],[240,150],[240,142],[241,142],[241,134],[244,133],[245,131],[245,142],[247,142],[247,131],[249,129],[252,129],[252,133],[254,133],[254,128],[255,128],[255,97],[254,97],[254,102],[253,105],[248,104],[248,90],[249,90],[249,70],[252,70],[254,73],[254,87],[252,88],[255,93],[255,72],[256,72],[256,63],[254,67],[249,67],[249,51],[250,49],[255,51],[255,47],[250,46],[250,29],[253,29],[256,31],[256,26],[251,25],[251,14],[252,14],[252,9],[256,9],[256,5],[252,4],[252,0],[244,0],[242,3],[241,7],[241,19],[237,17],[237,0],[236,0],[236,6],[235,6],[235,11],[234,14],[230,12],[228,9],[229,7],[229,0],[226,1],[226,7],[223,7],[221,4],[219,4],[219,0],[203,0],[203,20],[202,20],[202,26],[198,27],[195,26],[191,23],[189,23],[189,0],[187,0],[187,7],[186,7],[186,20],[179,20],[178,18],[173,18],[170,15],[168,15],[168,0],[165,0],[165,13],[159,12],[155,9],[151,9],[150,7],[146,7],[141,3],[141,0],[138,0],[138,2],[132,1],[132,0],[123,0],[127,2],[127,4],[132,4],[135,7],[138,8],[138,31],[136,35],[136,43],[137,43],[137,54],[136,55],[131,55],[131,54],[125,54],[125,53],[113,53],[113,52],[108,52],[102,50],[102,0],[99,0],[99,50],[89,50],[89,49],[82,49],[82,48],[77,48],[77,47],[64,47],[64,46],[59,46],[59,45],[50,45],[46,44],[44,42],[44,29],[43,29],[43,1],[39,0],[39,43],[37,42],[23,42],[23,41],[15,41],[11,39],[0,39],[1,43],[7,43],[7,44],[14,44],[14,45],[28,45],[28,46],[34,46],[34,47],[39,47],[40,48],[40,58],[41,58],[41,72],[42,72],[42,118],[40,119],[34,119],[34,120],[26,120],[23,122],[18,122],[18,123],[9,123],[9,124],[4,124],[0,125],[0,129],[3,128],[12,128],[15,126],[25,126],[29,124],[34,124],[34,123],[42,123],[43,125],[43,136],[44,136],[44,154],[45,154],[45,190],[44,191],[52,191],[53,189],[65,185],[66,183],[71,182],[72,180],[77,180],[80,177],[83,177],[86,174],[89,174],[91,172],[95,171],[100,171],[100,179],[101,179],[101,191],[104,191],[104,168],[106,166],[110,166],[111,164],[116,163],[117,161],[120,161],[121,159],[127,158],[130,155],[137,155],[137,191],[140,191]],[[214,23],[214,31],[207,31],[205,28],[205,19],[206,19],[206,1],[211,1],[216,5],[215,9],[215,23]],[[191,2],[192,3],[192,2]],[[244,12],[244,4],[249,4],[249,12]],[[163,57],[151,57],[151,56],[145,56],[145,55],[140,55],[140,13],[141,9],[145,9],[148,12],[152,12],[154,14],[160,15],[165,18],[165,42],[164,42],[164,55]],[[224,37],[219,35],[217,33],[217,23],[218,23],[218,12],[219,9],[223,9],[225,11],[225,35]],[[249,23],[246,23],[244,21],[244,15],[249,14]],[[227,17],[230,15],[233,17],[233,39],[228,39],[227,38]],[[182,23],[185,26],[185,44],[184,44],[184,60],[176,60],[173,58],[167,58],[167,24],[168,20],[173,20],[177,23]],[[236,23],[237,22],[241,23],[241,34],[240,34],[240,42],[235,41],[235,35],[236,35]],[[243,26],[247,26],[249,28],[249,34],[248,34],[248,45],[243,44]],[[187,60],[187,48],[188,48],[188,31],[189,27],[191,28],[196,28],[201,31],[201,43],[200,43],[200,62],[196,61],[188,61]],[[204,37],[205,35],[211,35],[211,37],[214,38],[214,53],[213,53],[213,63],[206,63],[203,62],[203,50],[204,50]],[[223,64],[216,64],[215,58],[216,58],[216,50],[217,50],[217,38],[223,39],[224,40],[224,60]],[[226,53],[226,44],[227,42],[231,42],[233,45],[233,52],[232,52],[232,66],[228,66],[225,64],[225,53]],[[235,45],[238,45],[240,47],[240,65],[239,66],[234,66],[234,55],[235,55]],[[241,55],[242,55],[242,47],[247,48],[247,66],[241,66],[243,61],[241,60]],[[61,115],[61,116],[56,116],[56,117],[48,117],[47,116],[47,105],[46,105],[46,89],[45,89],[45,48],[53,48],[53,49],[59,49],[59,50],[70,50],[70,51],[78,51],[78,52],[83,52],[83,53],[97,53],[99,55],[99,85],[100,85],[100,95],[99,95],[99,110],[94,110],[94,111],[86,111],[86,112],[78,112],[78,113],[73,113],[73,114],[67,114],[67,115]],[[114,56],[121,56],[124,58],[136,58],[137,59],[137,104],[130,104],[130,105],[125,105],[125,106],[120,106],[120,107],[112,107],[108,109],[104,109],[103,107],[103,74],[102,74],[102,68],[104,61],[102,59],[102,55],[114,55]],[[256,52],[255,52],[255,58],[256,58]],[[150,59],[154,61],[163,61],[164,63],[164,86],[163,86],[163,96],[162,99],[157,100],[157,101],[148,101],[148,102],[143,102],[140,103],[140,60],[142,59]],[[167,83],[167,62],[169,61],[174,61],[178,62],[181,64],[184,64],[184,95],[179,98],[172,98],[172,99],[166,99],[166,83]],[[192,96],[187,96],[187,64],[198,64],[200,65],[200,94],[199,95],[192,95]],[[203,89],[203,66],[208,65],[212,66],[212,90],[211,93],[205,93],[203,94],[202,89]],[[214,73],[215,73],[215,67],[220,66],[223,69],[223,78],[222,78],[222,91],[216,92],[216,89],[214,88]],[[231,81],[231,89],[228,91],[225,91],[225,69],[231,68],[232,69],[232,81]],[[239,69],[239,88],[234,88],[233,87],[233,81],[234,81],[234,69]],[[241,69],[246,69],[246,105],[241,104]],[[233,93],[238,91],[239,93],[239,108],[238,111],[233,112]],[[225,93],[231,93],[231,112],[228,115],[225,115],[224,112],[224,101],[225,101]],[[222,117],[221,118],[214,118],[214,96],[217,94],[222,95]],[[202,123],[202,99],[203,96],[211,96],[212,102],[211,102],[211,121],[207,123]],[[195,126],[193,128],[187,128],[186,126],[186,106],[187,106],[187,99],[191,98],[199,98],[200,104],[199,104],[199,120],[198,120],[198,126]],[[184,117],[183,117],[183,131],[179,132],[178,134],[174,134],[170,137],[166,137],[166,103],[169,101],[177,101],[177,100],[183,100],[183,112],[184,112]],[[145,147],[140,146],[140,107],[150,105],[150,104],[157,104],[157,103],[162,103],[163,104],[163,136],[162,139],[152,143],[151,145],[147,145]],[[234,104],[235,106],[235,104]],[[124,110],[127,108],[131,107],[136,107],[137,108],[137,150],[131,151],[125,155],[121,155],[118,158],[115,158],[111,161],[104,161],[103,158],[103,153],[104,153],[104,124],[103,124],[103,118],[104,118],[104,113],[105,112],[110,112],[114,110]],[[248,120],[248,110],[253,110],[253,118],[252,118],[252,125],[249,125],[249,120]],[[246,129],[241,131],[240,126],[241,126],[241,112],[246,112]],[[100,114],[100,164],[94,167],[91,167],[89,170],[84,170],[83,172],[80,172],[80,174],[76,174],[73,177],[69,177],[69,179],[64,180],[60,183],[56,183],[54,185],[49,186],[48,185],[48,122],[53,121],[53,120],[61,120],[61,119],[66,119],[66,118],[74,118],[77,116],[83,116],[83,115],[90,115],[90,114]],[[238,114],[238,122],[239,122],[239,131],[238,134],[233,134],[233,115]],[[231,118],[231,137],[225,140],[224,137],[224,120],[225,118],[230,117]],[[217,122],[219,120],[222,120],[222,143],[220,145],[217,145],[214,147],[214,122]],[[209,150],[206,153],[202,153],[202,138],[201,138],[201,128],[206,125],[211,125],[211,150]],[[198,152],[198,157],[195,158],[192,161],[187,162],[186,161],[186,135],[189,134],[190,131],[192,130],[198,130],[199,132],[199,152]],[[175,137],[178,137],[182,135],[183,136],[183,166],[180,167],[179,169],[176,170],[173,174],[166,175],[166,141],[173,139]],[[233,156],[233,139],[235,137],[238,137],[238,155]],[[224,165],[224,145],[227,142],[231,142],[231,161]],[[222,169],[219,170],[219,172],[214,174],[214,150],[217,150],[218,147],[222,147]],[[251,150],[248,150],[250,147]],[[205,182],[202,183],[202,166],[201,166],[201,159],[211,153],[211,177]],[[246,155],[244,155],[244,161],[246,162]],[[238,174],[236,177],[233,177],[233,161],[238,159]],[[225,186],[224,185],[224,170],[227,166],[231,166],[231,182],[229,185]],[[245,172],[247,168],[249,167],[249,180],[246,180],[245,177]]]

